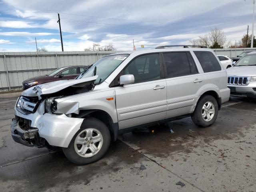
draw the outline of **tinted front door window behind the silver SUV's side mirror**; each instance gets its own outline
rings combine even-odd
[[[133,74],[134,83],[159,79],[159,54],[148,54],[135,58],[128,64],[128,66],[126,66],[123,74]]]

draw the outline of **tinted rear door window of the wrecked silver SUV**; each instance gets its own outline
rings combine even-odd
[[[163,54],[168,77],[189,75],[197,72],[192,58],[190,58],[189,62],[186,52],[172,52]],[[192,68],[193,72],[190,71],[190,67]]]

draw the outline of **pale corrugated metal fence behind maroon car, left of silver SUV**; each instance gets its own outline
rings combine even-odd
[[[116,51],[0,52],[0,92],[22,88],[28,78],[72,65],[88,66]]]

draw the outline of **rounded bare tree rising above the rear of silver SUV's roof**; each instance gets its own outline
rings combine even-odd
[[[218,28],[212,29],[208,33],[208,36],[209,36],[212,46],[218,44],[221,47],[223,47],[227,40],[227,38],[224,34],[224,31],[221,29],[218,29]]]

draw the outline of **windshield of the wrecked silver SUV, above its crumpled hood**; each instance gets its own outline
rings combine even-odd
[[[111,55],[101,58],[90,65],[76,79],[98,75],[95,84],[103,82],[127,57],[129,54]]]

